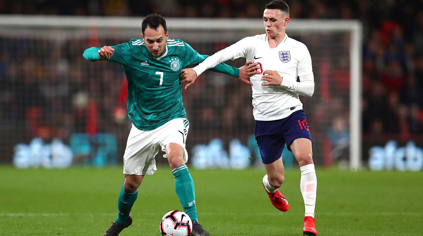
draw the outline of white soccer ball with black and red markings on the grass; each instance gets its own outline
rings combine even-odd
[[[160,221],[162,236],[188,236],[192,231],[191,218],[181,211],[170,211]]]

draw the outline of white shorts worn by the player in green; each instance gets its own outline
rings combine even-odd
[[[159,148],[166,152],[166,145],[179,144],[184,148],[184,161],[188,161],[185,149],[190,122],[176,118],[154,130],[139,130],[132,124],[124,154],[124,174],[152,175],[157,171],[154,157]],[[167,155],[163,155],[167,157]]]

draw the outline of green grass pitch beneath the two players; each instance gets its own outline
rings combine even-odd
[[[146,176],[121,236],[159,236],[163,214],[181,209],[168,166]],[[263,169],[195,170],[201,224],[214,236],[300,236],[304,203],[299,170],[281,187],[290,209],[275,209]],[[102,235],[116,217],[121,168],[66,170],[0,167],[0,236]],[[422,172],[317,169],[319,236],[423,235]]]

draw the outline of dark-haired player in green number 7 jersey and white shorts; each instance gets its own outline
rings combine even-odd
[[[142,23],[142,39],[115,46],[86,49],[89,61],[109,60],[123,66],[128,80],[128,117],[132,122],[124,154],[124,175],[118,198],[118,217],[103,236],[117,236],[132,224],[129,215],[137,199],[144,175],[157,170],[154,156],[165,151],[179,201],[192,222],[191,236],[209,236],[198,223],[194,182],[185,163],[188,160],[185,141],[189,122],[182,104],[179,74],[187,65],[198,64],[206,57],[179,39],[169,39],[165,19],[148,15]],[[252,62],[251,62],[252,63]],[[211,71],[225,73],[247,81],[254,73],[247,62],[241,68],[219,64]]]

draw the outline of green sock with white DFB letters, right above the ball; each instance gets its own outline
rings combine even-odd
[[[175,191],[181,201],[184,212],[188,214],[191,220],[198,222],[197,208],[195,207],[194,181],[187,165],[179,165],[172,174],[175,176]]]

